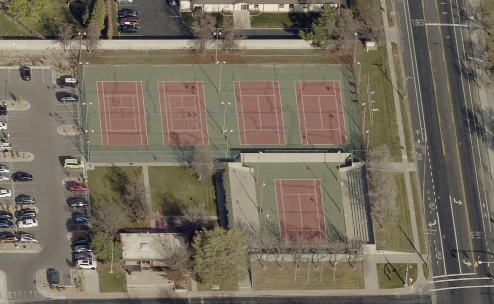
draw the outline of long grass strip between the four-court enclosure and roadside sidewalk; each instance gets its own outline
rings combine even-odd
[[[357,81],[360,92],[359,104],[366,103],[367,108],[364,110],[364,107],[361,106],[360,109],[362,116],[364,113],[366,114],[363,129],[370,130],[369,135],[366,134],[365,136],[365,143],[367,145],[368,136],[370,136],[370,148],[386,144],[391,152],[391,158],[395,162],[401,162],[400,139],[386,47],[380,46],[377,50],[366,52],[362,44],[358,43],[356,60],[361,63],[357,69],[359,71],[356,73],[361,75],[360,80]],[[362,70],[360,71],[360,69]],[[368,84],[370,84],[369,91],[367,91]],[[374,94],[371,94],[372,91]],[[379,111],[369,110],[368,98],[375,100],[375,103],[371,103],[371,108],[377,108]],[[372,120],[370,114],[372,114]]]

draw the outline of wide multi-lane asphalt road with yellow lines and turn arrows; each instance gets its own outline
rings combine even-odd
[[[424,3],[425,7],[422,7]],[[493,303],[492,201],[463,3],[397,2],[438,303]]]

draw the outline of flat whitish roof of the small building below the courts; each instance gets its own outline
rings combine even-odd
[[[122,259],[125,261],[161,261],[177,246],[184,246],[179,233],[122,233]]]

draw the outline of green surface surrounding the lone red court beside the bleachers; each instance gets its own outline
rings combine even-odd
[[[257,163],[245,165],[257,169]],[[337,174],[338,164],[336,163],[260,163],[259,181],[255,184],[257,206],[262,209],[259,214],[259,228],[280,236],[280,214],[277,203],[280,198],[276,193],[276,179],[319,179],[327,243],[335,239],[345,240],[345,211],[342,210],[341,184],[337,180]],[[262,206],[260,206],[261,200]],[[301,209],[304,209],[303,206]],[[295,213],[298,214],[298,211]],[[317,219],[314,220],[317,221]]]

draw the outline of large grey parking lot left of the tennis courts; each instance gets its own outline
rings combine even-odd
[[[34,209],[39,226],[22,231],[34,234],[42,246],[40,253],[1,255],[0,268],[7,275],[8,297],[11,300],[38,298],[35,279],[41,269],[55,268],[61,271],[62,283],[70,284],[72,268],[72,249],[70,232],[76,230],[71,210],[66,200],[74,195],[64,187],[68,177],[82,175],[82,170],[66,170],[61,161],[64,157],[82,158],[80,136],[65,136],[58,133],[61,125],[79,123],[77,103],[61,103],[55,94],[61,91],[77,93],[77,88],[56,86],[54,72],[48,68],[32,68],[32,79],[21,80],[17,68],[0,69],[1,99],[15,99],[17,96],[30,104],[24,111],[9,109],[8,115],[0,117],[7,123],[7,130],[0,131],[0,137],[8,137],[12,150],[30,152],[34,155],[31,162],[9,162],[0,160],[1,165],[10,168],[11,173],[18,171],[33,175],[30,182],[14,182],[12,179],[0,183],[1,188],[12,191],[10,198],[1,198],[0,204],[16,206],[14,199],[29,195],[36,198]],[[82,210],[84,212],[84,210]],[[16,232],[14,228],[0,229],[0,233]],[[22,244],[20,245],[22,246]]]

